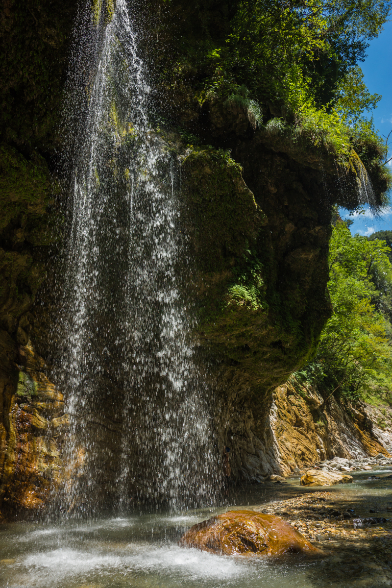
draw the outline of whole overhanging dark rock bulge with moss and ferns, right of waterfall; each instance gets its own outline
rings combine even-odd
[[[331,208],[321,170],[295,152],[276,153],[260,135],[238,140],[242,175],[208,151],[182,167],[200,335],[263,392],[310,356],[330,316]]]

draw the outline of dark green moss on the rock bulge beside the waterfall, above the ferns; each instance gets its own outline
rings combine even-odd
[[[203,272],[232,273],[256,243],[266,216],[244,183],[241,166],[228,152],[188,149],[182,169],[197,241],[203,234],[203,245],[196,250],[197,266]]]

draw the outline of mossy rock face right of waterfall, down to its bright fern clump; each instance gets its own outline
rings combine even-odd
[[[192,226],[199,312],[204,323],[264,305],[263,268],[254,246],[266,216],[228,152],[189,149],[182,162]]]

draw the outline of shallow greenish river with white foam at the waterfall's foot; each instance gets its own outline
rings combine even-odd
[[[349,497],[356,512],[363,507],[365,513],[368,504],[392,499],[392,479],[367,479],[382,470],[388,471],[354,473],[353,484],[313,490],[333,492],[336,500]],[[390,567],[388,563],[392,562],[381,563],[381,567],[373,566],[373,572],[370,570],[366,578],[357,582],[354,578],[349,583],[339,582],[339,564],[340,567],[346,567],[346,564],[344,560],[336,560],[339,554],[333,554],[333,548],[325,546],[323,554],[316,559],[287,554],[283,559],[269,562],[257,556],[219,556],[177,546],[183,532],[215,513],[287,499],[310,491],[299,486],[299,478],[290,478],[279,485],[267,483],[236,490],[227,505],[213,510],[175,515],[132,515],[89,522],[4,524],[0,526],[0,586],[311,588],[340,585],[378,588],[390,585],[387,569]],[[387,530],[390,524],[384,527]],[[363,559],[366,553],[357,553],[357,557]]]

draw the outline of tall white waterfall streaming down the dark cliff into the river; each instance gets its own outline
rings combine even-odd
[[[76,112],[75,93],[65,106],[78,129],[59,306],[56,377],[70,426],[57,503],[87,514],[210,503],[219,459],[192,341],[176,162],[149,122],[126,0],[86,11],[74,74],[88,62],[86,106]]]

